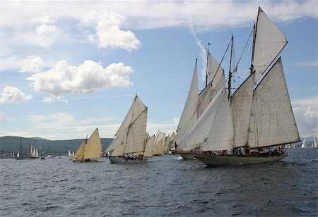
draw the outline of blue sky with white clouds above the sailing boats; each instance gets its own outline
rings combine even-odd
[[[114,137],[136,94],[147,131],[171,134],[196,58],[203,89],[208,43],[220,62],[233,34],[237,60],[259,6],[288,39],[280,56],[300,137],[317,136],[316,0],[0,1],[0,136]]]

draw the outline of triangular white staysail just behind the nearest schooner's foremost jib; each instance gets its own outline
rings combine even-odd
[[[233,147],[233,123],[225,89],[220,94],[220,103],[208,135],[208,140],[201,147],[201,151],[227,150]]]

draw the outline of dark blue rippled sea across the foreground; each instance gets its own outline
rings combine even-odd
[[[317,216],[318,150],[207,167],[155,156],[136,164],[0,160],[0,216]]]

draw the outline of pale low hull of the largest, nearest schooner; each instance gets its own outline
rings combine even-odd
[[[220,166],[276,162],[285,158],[288,154],[283,154],[281,156],[216,156],[208,154],[194,154],[193,156],[208,166]]]

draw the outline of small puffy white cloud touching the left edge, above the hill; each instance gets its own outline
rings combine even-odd
[[[30,101],[33,97],[20,91],[17,87],[4,87],[1,97],[0,104],[13,104],[20,101]]]

